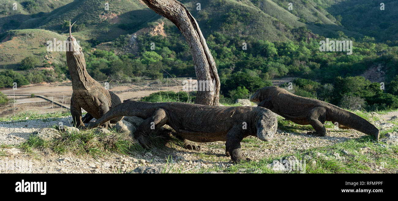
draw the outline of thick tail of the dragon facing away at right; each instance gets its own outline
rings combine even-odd
[[[332,121],[332,123],[337,122],[339,126],[349,127],[367,135],[375,136],[377,140],[380,136],[376,126],[364,118],[337,106],[332,106],[330,111],[328,111],[328,120]]]

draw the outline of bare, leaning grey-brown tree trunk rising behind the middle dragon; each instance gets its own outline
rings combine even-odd
[[[157,14],[172,21],[185,37],[192,52],[199,85],[195,103],[219,105],[220,78],[213,56],[195,18],[177,0],[143,0],[143,2]]]

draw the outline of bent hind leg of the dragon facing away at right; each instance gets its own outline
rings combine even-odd
[[[315,132],[308,132],[309,135],[324,136],[326,128],[323,125],[326,121],[326,109],[324,107],[315,107],[307,114],[307,121],[314,129]]]

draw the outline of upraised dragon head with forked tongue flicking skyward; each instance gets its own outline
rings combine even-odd
[[[84,60],[82,47],[77,43],[76,38],[72,36],[71,29],[74,23],[70,25],[69,21],[69,37],[66,39],[66,62],[69,70],[71,70],[72,64],[76,64],[76,68],[83,70],[86,68],[86,61]]]

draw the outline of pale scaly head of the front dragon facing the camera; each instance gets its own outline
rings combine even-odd
[[[276,114],[271,110],[265,108],[264,110],[266,110],[266,113],[260,115],[257,120],[257,137],[262,141],[271,141],[277,131],[278,120]]]

